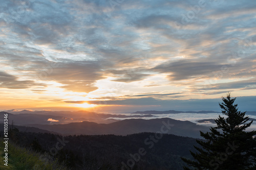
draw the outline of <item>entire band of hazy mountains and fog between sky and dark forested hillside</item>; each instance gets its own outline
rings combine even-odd
[[[159,115],[177,115],[181,114],[193,116],[195,113],[211,115],[217,114],[215,111],[137,111],[130,114],[106,114],[88,111],[14,111],[0,112],[0,114],[8,113],[9,124],[22,126],[19,129],[27,132],[43,132],[45,130],[51,133],[62,135],[101,135],[115,134],[128,135],[140,132],[159,132],[165,124],[172,125],[168,130],[168,134],[179,136],[188,136],[201,138],[200,131],[209,130],[209,123],[214,125],[214,119],[200,119],[196,123],[189,121],[181,121],[168,117],[158,117]],[[189,114],[190,113],[190,114]],[[221,114],[221,113],[218,113]],[[251,112],[253,115],[254,112]],[[172,116],[170,116],[172,117]],[[0,120],[3,123],[4,116]],[[120,120],[121,119],[121,120]],[[251,120],[256,120],[251,118]],[[256,121],[255,121],[256,122]],[[208,126],[202,126],[208,125]],[[29,128],[29,127],[34,127]],[[39,129],[35,129],[39,128]]]

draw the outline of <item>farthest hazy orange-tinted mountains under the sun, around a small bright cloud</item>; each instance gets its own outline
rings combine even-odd
[[[8,112],[0,112],[0,115]],[[15,112],[16,113],[16,112]],[[104,114],[86,111],[77,112],[55,112],[55,111],[21,111],[19,114],[8,113],[9,124],[28,125],[56,125],[69,124],[74,122],[95,122],[99,124],[109,124],[119,121],[115,118],[140,118],[140,117],[155,117],[154,115],[121,115],[121,114]],[[4,116],[0,117],[0,123],[3,123]]]

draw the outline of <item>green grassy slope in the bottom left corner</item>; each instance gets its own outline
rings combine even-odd
[[[16,144],[8,143],[8,166],[4,165],[4,142],[0,139],[0,169],[23,169],[23,170],[55,170],[67,169],[65,166],[59,165],[57,160],[51,160],[47,154],[39,154],[26,148],[18,147]]]

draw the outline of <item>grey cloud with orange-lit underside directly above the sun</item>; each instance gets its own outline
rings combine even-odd
[[[103,79],[100,61],[60,60],[58,67],[53,68],[48,79],[54,79],[67,90],[90,92],[97,89],[94,83]]]

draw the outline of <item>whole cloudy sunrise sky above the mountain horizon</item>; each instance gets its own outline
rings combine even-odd
[[[256,111],[255,1],[1,1],[0,109]]]

